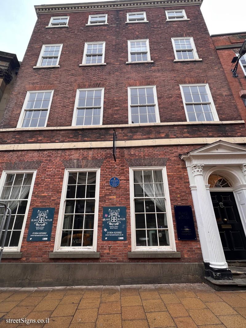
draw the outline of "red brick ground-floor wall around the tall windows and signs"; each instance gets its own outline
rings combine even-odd
[[[17,259],[3,259],[5,262],[201,262],[202,255],[199,237],[196,227],[196,241],[177,240],[174,205],[192,205],[192,195],[189,188],[189,179],[185,162],[179,159],[178,154],[183,154],[191,149],[199,147],[142,147],[122,148],[117,150],[117,162],[112,156],[112,149],[89,149],[89,150],[63,150],[63,151],[17,151],[2,152],[0,173],[2,165],[6,162],[15,161],[42,161],[37,169],[31,204],[28,213],[25,233],[22,241],[21,252],[23,257]],[[128,259],[127,252],[131,251],[131,222],[130,222],[130,190],[129,190],[129,166],[125,158],[166,157],[167,177],[169,184],[174,233],[177,251],[181,252],[181,259]],[[60,206],[60,198],[64,177],[64,165],[62,160],[71,159],[95,159],[105,158],[101,166],[99,213],[98,213],[98,238],[97,251],[99,259],[49,259],[49,252],[53,252],[55,233]],[[120,178],[120,185],[112,188],[109,179],[112,176]],[[177,192],[178,191],[178,192]],[[51,241],[27,242],[31,212],[33,207],[55,207],[54,222]],[[103,206],[126,206],[127,207],[127,241],[102,241],[102,212]],[[193,211],[194,220],[195,213]]]

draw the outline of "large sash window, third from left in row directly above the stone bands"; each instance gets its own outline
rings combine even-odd
[[[129,123],[159,122],[155,86],[128,88]]]

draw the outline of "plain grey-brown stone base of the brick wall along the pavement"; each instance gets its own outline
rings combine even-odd
[[[204,282],[203,263],[1,263],[0,287]]]

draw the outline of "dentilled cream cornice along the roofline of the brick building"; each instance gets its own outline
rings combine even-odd
[[[163,6],[195,6],[201,5],[203,0],[162,0],[162,1],[102,1],[91,3],[56,4],[34,6],[37,16],[39,14],[57,12],[78,12],[93,10],[120,10],[126,8],[148,8]]]

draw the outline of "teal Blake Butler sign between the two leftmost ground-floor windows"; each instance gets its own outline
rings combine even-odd
[[[32,209],[27,241],[50,241],[55,209],[38,207]]]

